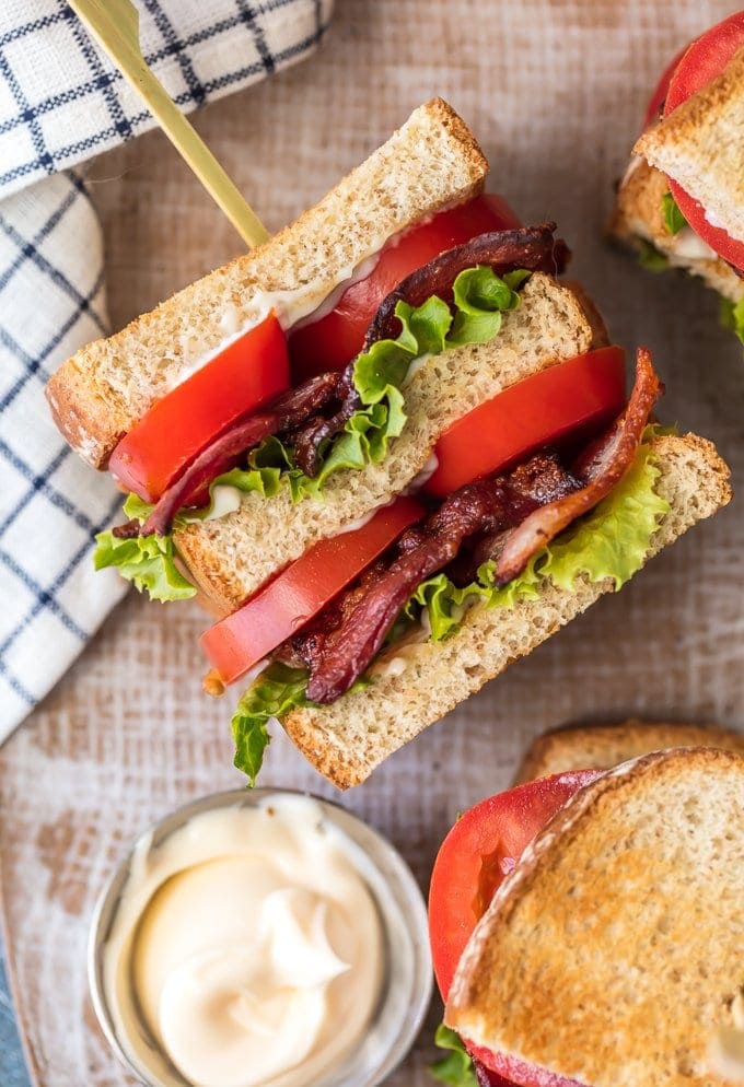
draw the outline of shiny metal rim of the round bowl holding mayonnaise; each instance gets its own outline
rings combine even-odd
[[[140,1078],[144,1075],[152,1075],[152,1073],[148,1073],[146,1067],[136,1065],[119,1041],[104,991],[103,959],[101,956],[101,950],[116,917],[121,892],[129,879],[132,857],[137,849],[147,839],[150,839],[149,849],[154,849],[194,816],[222,807],[252,807],[258,800],[277,794],[306,796],[309,799],[314,800],[322,807],[324,815],[367,854],[385,888],[392,891],[395,907],[405,923],[407,935],[410,939],[414,956],[414,984],[411,986],[412,992],[410,994],[408,1014],[403,1025],[404,1029],[393,1040],[384,1059],[377,1063],[371,1076],[363,1080],[354,1079],[348,1080],[348,1083],[353,1083],[354,1087],[379,1087],[403,1061],[416,1040],[431,1001],[433,972],[429,948],[426,903],[412,872],[398,850],[380,831],[370,827],[363,819],[353,815],[353,813],[342,807],[336,800],[329,800],[303,790],[282,788],[278,786],[265,786],[251,790],[249,792],[245,788],[234,788],[220,793],[210,793],[199,799],[191,800],[176,808],[163,819],[158,820],[138,834],[127,851],[126,856],[106,880],[93,909],[88,940],[88,983],[93,1009],[98,1026],[119,1063],[128,1072],[135,1073]],[[390,921],[384,909],[385,903],[381,902],[380,895],[374,888],[371,887],[370,890],[383,921],[386,940],[388,940]],[[385,989],[381,994],[381,1006],[384,1006],[388,998],[388,982],[390,978],[386,975]],[[379,1014],[380,1012],[377,1012]],[[338,1079],[335,1073],[330,1079],[324,1080],[322,1084],[318,1083],[317,1087],[326,1087],[326,1084],[327,1087],[346,1087],[346,1073],[353,1071],[352,1063],[347,1062],[338,1071],[345,1074],[344,1078]],[[183,1082],[186,1087],[187,1082],[185,1079]]]

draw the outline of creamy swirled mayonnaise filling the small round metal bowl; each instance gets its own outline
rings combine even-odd
[[[167,1087],[168,1063],[194,1087],[306,1087],[339,1066],[384,972],[359,853],[315,800],[287,794],[141,844],[104,949],[130,1060]]]

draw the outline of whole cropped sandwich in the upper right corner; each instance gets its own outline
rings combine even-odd
[[[744,337],[744,13],[684,49],[651,100],[611,233],[700,276]]]

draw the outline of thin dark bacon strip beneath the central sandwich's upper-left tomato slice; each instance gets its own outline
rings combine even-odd
[[[302,425],[330,402],[340,379],[339,373],[311,377],[304,385],[278,397],[269,410],[234,423],[202,449],[183,476],[163,492],[147,521],[142,524],[129,521],[115,528],[114,535],[121,539],[150,536],[152,533],[164,536],[170,531],[178,510],[195,504],[206,487],[223,471],[234,468],[246,449],[271,434],[282,434]]]

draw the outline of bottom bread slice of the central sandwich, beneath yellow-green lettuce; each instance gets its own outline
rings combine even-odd
[[[661,469],[656,491],[671,511],[648,558],[731,498],[729,470],[709,442],[691,434],[664,436],[654,440],[653,449]],[[508,610],[473,608],[455,635],[407,646],[402,671],[379,675],[372,687],[345,694],[333,705],[295,710],[282,724],[321,773],[340,788],[357,785],[427,725],[612,588],[612,580],[579,581],[571,591],[548,582],[536,600],[519,599]],[[380,665],[399,655],[392,646]]]

